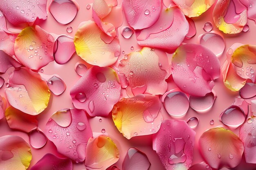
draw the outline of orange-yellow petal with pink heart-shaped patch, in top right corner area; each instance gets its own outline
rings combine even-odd
[[[247,23],[247,8],[240,0],[218,0],[213,9],[213,21],[224,33],[240,33]]]

